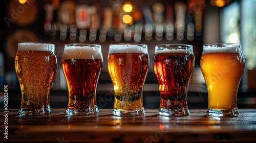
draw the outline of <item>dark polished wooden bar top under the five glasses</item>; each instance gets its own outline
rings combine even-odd
[[[206,109],[181,117],[160,116],[158,109],[129,117],[114,116],[112,109],[92,116],[70,116],[65,109],[41,116],[8,111],[6,117],[0,110],[0,142],[256,142],[256,109],[239,109],[238,117],[206,116]]]

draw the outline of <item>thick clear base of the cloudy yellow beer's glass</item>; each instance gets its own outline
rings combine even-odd
[[[237,108],[223,110],[208,108],[206,114],[210,116],[238,116],[239,111]]]

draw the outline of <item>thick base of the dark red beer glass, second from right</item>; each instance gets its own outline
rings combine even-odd
[[[186,116],[189,115],[188,109],[169,109],[159,108],[158,114],[163,116]]]

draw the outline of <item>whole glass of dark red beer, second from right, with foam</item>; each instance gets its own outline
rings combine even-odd
[[[187,90],[195,66],[193,46],[162,44],[155,46],[153,67],[160,91],[158,114],[189,115]]]

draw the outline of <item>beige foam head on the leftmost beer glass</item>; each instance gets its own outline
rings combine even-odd
[[[50,43],[18,43],[18,51],[53,51],[55,45]]]

